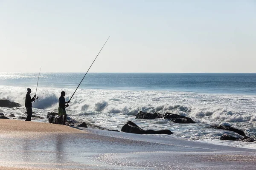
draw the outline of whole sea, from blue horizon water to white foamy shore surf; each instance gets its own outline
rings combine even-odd
[[[41,73],[33,111],[48,122],[47,112],[58,109],[61,91],[70,99],[84,73]],[[0,98],[22,105],[0,108],[0,113],[26,116],[27,88],[35,94],[38,73],[0,73]],[[130,120],[144,130],[169,129],[166,138],[195,140],[256,149],[256,143],[220,141],[223,134],[211,125],[230,125],[256,139],[256,74],[229,73],[88,73],[74,94],[67,114],[72,119],[121,130]],[[176,124],[167,119],[135,119],[138,112],[175,113],[196,124]]]

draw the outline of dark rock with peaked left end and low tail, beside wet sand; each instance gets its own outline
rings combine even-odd
[[[121,131],[136,134],[172,134],[170,130],[143,130],[142,128],[140,128],[138,125],[131,121],[126,122],[126,124],[123,125]]]

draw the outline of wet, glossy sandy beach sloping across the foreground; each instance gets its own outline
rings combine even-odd
[[[255,150],[0,119],[0,169],[253,169]]]

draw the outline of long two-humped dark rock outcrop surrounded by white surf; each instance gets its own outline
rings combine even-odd
[[[174,123],[195,123],[190,117],[180,116],[178,114],[164,113],[162,115],[160,113],[147,113],[143,111],[140,111],[140,113],[136,115],[135,119],[157,119],[157,118],[169,119]]]

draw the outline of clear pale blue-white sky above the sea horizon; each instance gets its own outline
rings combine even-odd
[[[256,72],[256,0],[0,0],[0,72]]]

